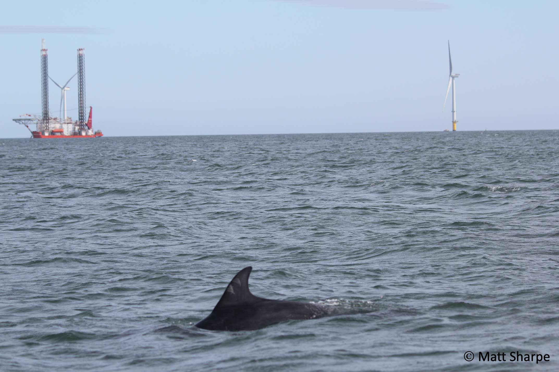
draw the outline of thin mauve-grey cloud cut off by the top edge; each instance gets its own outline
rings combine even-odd
[[[278,0],[300,3],[318,7],[336,7],[353,9],[384,9],[401,11],[431,11],[447,9],[443,3],[430,0]]]

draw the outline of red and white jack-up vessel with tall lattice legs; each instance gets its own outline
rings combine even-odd
[[[95,138],[102,137],[101,131],[93,132],[92,111],[89,107],[89,117],[86,121],[86,54],[83,48],[78,49],[78,72],[72,75],[64,86],[58,85],[49,76],[49,54],[45,47],[45,39],[42,39],[41,48],[41,93],[42,93],[42,115],[21,115],[13,119],[18,124],[25,125],[31,132],[32,138]],[[66,92],[70,90],[68,83],[78,75],[78,120],[72,121],[66,111]],[[58,118],[50,117],[49,113],[49,79],[61,90],[60,114]],[[64,102],[64,116],[62,116],[62,104]],[[36,125],[32,131],[30,125]]]

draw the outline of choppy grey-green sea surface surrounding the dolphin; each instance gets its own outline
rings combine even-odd
[[[0,139],[0,370],[559,370],[558,221],[559,131]]]

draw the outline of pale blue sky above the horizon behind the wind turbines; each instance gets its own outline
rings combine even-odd
[[[106,136],[559,129],[557,1],[0,2],[0,138],[86,50]],[[49,83],[51,115],[60,89]],[[68,115],[78,115],[77,80]]]

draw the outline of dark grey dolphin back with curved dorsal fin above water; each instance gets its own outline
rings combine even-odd
[[[338,315],[339,308],[254,296],[248,289],[252,267],[235,275],[209,316],[196,327],[211,331],[251,331],[274,323]]]

